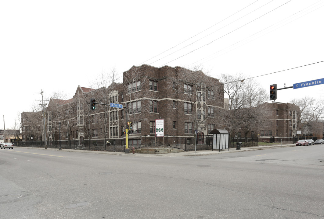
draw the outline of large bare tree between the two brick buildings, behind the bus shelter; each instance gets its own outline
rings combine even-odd
[[[260,130],[265,126],[269,109],[263,105],[267,100],[266,91],[253,79],[239,73],[237,75],[221,75],[224,91],[228,96],[228,110],[219,109],[218,119],[224,122],[230,133],[243,131],[248,133]]]

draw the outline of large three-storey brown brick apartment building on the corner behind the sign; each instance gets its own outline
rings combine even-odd
[[[90,110],[91,98],[124,108],[97,104]],[[219,79],[181,67],[133,66],[123,72],[122,83],[99,89],[78,86],[72,99],[51,98],[45,113],[46,136],[50,143],[59,140],[60,133],[62,140],[80,143],[89,137],[123,139],[128,121],[133,122],[130,137],[154,136],[155,119],[164,119],[165,135],[193,137],[198,130],[199,143],[204,143],[205,136],[218,128],[211,120],[214,108],[224,108],[224,86]],[[40,112],[22,113],[23,141],[43,138],[41,121]]]

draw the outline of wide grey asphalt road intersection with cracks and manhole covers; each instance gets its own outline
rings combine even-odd
[[[324,146],[145,157],[0,150],[0,218],[324,218]]]

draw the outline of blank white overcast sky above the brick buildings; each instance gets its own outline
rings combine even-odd
[[[122,76],[142,63],[199,64],[215,78],[255,77],[324,61],[323,6],[324,0],[1,1],[0,129],[3,115],[10,129],[18,113],[39,104],[41,90],[45,99],[58,91],[70,99],[78,85],[89,87],[113,67]],[[266,90],[274,83],[283,88],[324,78],[323,68],[321,62],[255,80]],[[324,85],[279,90],[277,102],[323,93]]]

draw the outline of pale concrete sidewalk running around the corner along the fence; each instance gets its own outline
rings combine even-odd
[[[256,146],[256,147],[241,147],[241,150],[236,150],[236,148],[229,148],[229,150],[206,150],[206,151],[185,151],[185,152],[178,152],[178,153],[167,153],[167,154],[142,154],[142,153],[132,153],[130,151],[129,154],[125,154],[124,152],[112,152],[112,151],[87,151],[87,150],[71,150],[71,149],[53,149],[53,148],[29,148],[29,147],[21,147],[26,149],[37,149],[37,150],[54,150],[54,151],[69,151],[69,152],[81,152],[81,153],[100,153],[100,154],[109,154],[109,155],[115,155],[115,156],[136,156],[136,157],[181,157],[181,156],[203,156],[203,155],[211,155],[211,154],[219,154],[219,153],[234,153],[234,152],[241,152],[241,151],[256,151],[256,150],[263,150],[263,149],[269,149],[269,148],[283,148],[283,147],[294,147],[295,144],[283,144],[283,145],[268,145],[268,146]],[[14,148],[20,148],[20,147],[14,147]]]

